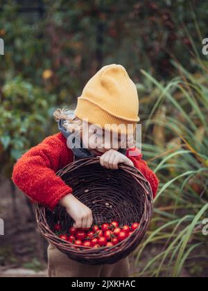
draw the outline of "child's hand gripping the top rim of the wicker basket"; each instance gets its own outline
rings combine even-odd
[[[128,159],[128,157],[121,154],[121,152],[118,152],[117,150],[107,150],[107,152],[101,156],[100,161],[101,166],[112,170],[118,170],[120,163],[128,166],[134,166],[134,163]]]

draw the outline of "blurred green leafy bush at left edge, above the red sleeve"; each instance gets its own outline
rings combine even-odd
[[[10,175],[14,162],[44,139],[55,97],[33,87],[20,76],[2,88],[0,107],[1,173]]]

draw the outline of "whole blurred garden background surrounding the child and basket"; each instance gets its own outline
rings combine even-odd
[[[0,0],[0,276],[45,270],[34,205],[10,179],[21,155],[58,132],[57,107],[76,105],[105,64],[137,85],[142,152],[160,180],[132,276],[207,276],[208,3],[193,0]]]

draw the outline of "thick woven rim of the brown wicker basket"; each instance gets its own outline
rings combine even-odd
[[[83,166],[89,166],[89,162],[90,164],[100,164],[100,158],[89,157],[89,158],[84,158],[84,159],[78,159],[77,161],[67,164],[67,166],[64,166],[64,168],[58,170],[56,175],[58,175],[58,177],[62,177],[62,175],[64,175],[65,173],[68,173],[69,170],[73,171]],[[74,244],[68,241],[62,240],[61,238],[56,236],[56,234],[50,229],[49,224],[46,220],[46,210],[48,208],[42,204],[37,204],[36,220],[37,220],[37,226],[40,229],[42,236],[44,236],[44,238],[48,240],[49,243],[55,245],[58,249],[60,249],[61,252],[64,252],[64,253],[70,252],[74,256],[77,256],[80,258],[83,255],[89,255],[89,256],[93,256],[93,260],[96,260],[96,258],[100,258],[104,253],[105,253],[105,258],[110,258],[112,254],[116,256],[121,252],[122,247],[125,247],[126,245],[128,245],[128,247],[130,247],[131,245],[136,245],[137,240],[139,240],[140,238],[142,239],[144,237],[146,230],[148,228],[150,219],[153,215],[153,191],[146,177],[144,177],[141,171],[137,169],[135,166],[119,164],[119,169],[124,170],[126,173],[130,174],[132,178],[134,179],[137,179],[137,180],[141,179],[141,181],[143,181],[144,183],[148,185],[148,191],[146,190],[146,188],[143,188],[144,193],[146,195],[144,195],[144,208],[145,209],[144,209],[144,212],[142,213],[140,222],[138,221],[141,225],[132,233],[131,236],[129,236],[125,240],[122,240],[117,245],[114,245],[112,247],[105,246],[98,249],[94,249],[92,247],[79,246],[78,247],[79,249],[76,249],[74,247],[75,246]],[[40,221],[40,219],[42,219],[42,222]],[[86,259],[89,259],[89,258],[86,258]]]

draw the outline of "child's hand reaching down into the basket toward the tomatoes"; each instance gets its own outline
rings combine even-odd
[[[66,195],[59,204],[67,210],[67,213],[73,218],[75,223],[73,227],[91,227],[92,226],[92,211],[85,204],[80,202],[72,194]]]

